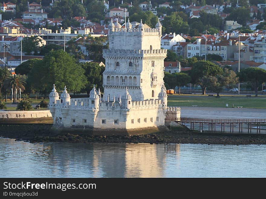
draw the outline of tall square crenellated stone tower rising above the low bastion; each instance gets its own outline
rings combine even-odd
[[[167,51],[161,49],[161,23],[150,28],[141,20],[132,28],[128,20],[125,27],[118,22],[109,24],[109,49],[103,50],[105,96],[115,95],[118,99],[128,87],[132,101],[157,99]]]

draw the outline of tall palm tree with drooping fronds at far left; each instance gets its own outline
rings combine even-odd
[[[10,75],[6,80],[5,80],[5,85],[6,85],[6,88],[13,88],[13,102],[15,102],[15,92],[16,92],[16,89],[17,91],[19,89],[21,89],[22,91],[25,90],[25,85],[26,82],[25,82],[25,79],[22,75]]]

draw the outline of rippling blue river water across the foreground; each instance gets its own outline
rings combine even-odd
[[[266,145],[75,144],[0,138],[0,177],[266,177]]]

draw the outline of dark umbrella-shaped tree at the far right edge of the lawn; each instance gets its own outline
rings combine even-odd
[[[251,83],[257,97],[259,86],[266,80],[266,70],[257,67],[245,68],[238,73],[238,77],[240,82]]]

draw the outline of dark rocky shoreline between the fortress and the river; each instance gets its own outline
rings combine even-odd
[[[51,124],[0,124],[0,137],[37,142],[150,143],[150,144],[266,144],[265,134],[222,134],[172,129],[145,135],[54,134]]]

